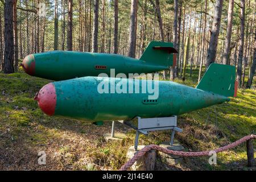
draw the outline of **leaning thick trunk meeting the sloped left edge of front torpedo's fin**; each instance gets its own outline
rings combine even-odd
[[[210,31],[211,35],[210,35],[209,48],[207,52],[207,60],[206,60],[207,68],[211,63],[214,63],[216,59],[218,35],[220,34],[222,6],[223,6],[223,0],[216,0],[212,28]]]

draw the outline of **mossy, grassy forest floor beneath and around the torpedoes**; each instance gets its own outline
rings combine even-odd
[[[196,86],[197,75],[198,71],[193,71],[186,81],[175,81]],[[103,135],[110,132],[112,122],[96,126],[85,121],[48,117],[33,100],[35,93],[48,82],[23,71],[0,73],[0,170],[115,170],[125,164],[135,131],[117,123],[116,130],[128,138],[106,142]],[[176,139],[185,151],[212,150],[255,134],[255,81],[254,89],[239,89],[238,97],[229,103],[180,115],[178,126],[183,132],[176,134]],[[139,144],[159,144],[168,139],[170,131],[153,132],[141,135]],[[39,151],[46,152],[46,165],[38,164]],[[245,144],[218,153],[217,165],[211,166],[208,159],[209,156],[184,158],[176,166],[157,160],[155,169],[256,170],[246,167]]]

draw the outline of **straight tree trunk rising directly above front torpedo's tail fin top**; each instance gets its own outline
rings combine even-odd
[[[232,35],[233,9],[234,9],[234,0],[229,0],[228,26],[226,28],[223,64],[230,64],[230,42],[231,42],[231,35]]]

